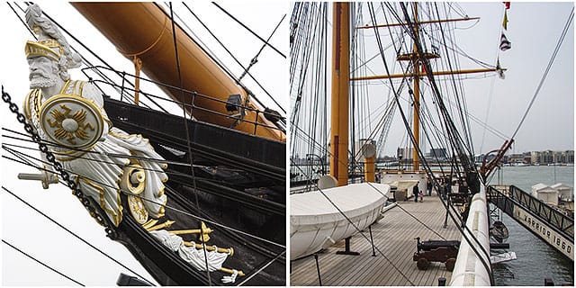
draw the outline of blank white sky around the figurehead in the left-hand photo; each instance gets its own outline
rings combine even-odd
[[[99,31],[95,30],[90,23],[87,23],[82,15],[78,14],[71,5],[67,3],[55,4],[53,1],[39,1],[36,3],[40,4],[44,12],[84,41],[87,46],[97,51],[99,56],[112,64],[113,67],[133,73],[131,62],[121,57],[112,44]],[[274,30],[275,25],[280,22],[282,16],[288,13],[288,4],[284,2],[266,3],[265,5],[243,1],[242,3],[226,2],[220,5],[264,39]],[[21,6],[24,8],[25,4],[21,3]],[[174,6],[176,13],[184,17],[186,23],[193,31],[198,33],[202,40],[207,41],[207,45],[214,50],[214,53],[224,63],[228,64],[233,74],[239,76],[242,69],[233,63],[218,44],[214,44],[211,37],[193,19],[193,16],[184,9],[184,6],[180,3],[174,4]],[[262,46],[262,42],[230,20],[216,6],[207,1],[189,3],[188,6],[202,18],[202,21],[211,28],[220,40],[224,41],[228,49],[235,54],[245,67],[250,62],[250,59],[256,56],[257,51]],[[14,8],[18,9],[15,6]],[[288,55],[287,32],[289,18],[289,15],[287,15],[275,36],[270,40],[272,45],[280,49],[284,55]],[[0,19],[2,19],[4,27],[3,48],[0,54],[0,63],[2,63],[0,82],[4,85],[5,91],[12,95],[14,103],[21,106],[23,96],[29,91],[28,65],[23,47],[26,40],[33,40],[33,38],[6,3],[0,4]],[[70,38],[67,37],[67,39],[74,47],[78,48],[78,45]],[[90,58],[93,63],[97,63],[93,57],[90,57],[85,52],[82,52],[82,54]],[[250,70],[258,81],[266,87],[266,90],[275,96],[276,101],[285,110],[287,110],[286,107],[288,106],[287,69],[284,69],[286,63],[286,59],[272,49],[264,49],[258,58],[257,64]],[[72,73],[72,78],[86,79],[77,70]],[[245,85],[270,108],[279,110],[251,80],[246,78]],[[23,126],[15,121],[15,116],[9,113],[7,105],[3,103],[0,106],[2,109],[2,112],[0,112],[2,115],[2,127],[23,132]],[[3,131],[3,134],[11,133]],[[13,144],[23,144],[22,141],[8,140],[4,137],[2,140]],[[31,147],[34,146],[31,145]],[[34,157],[40,155],[38,151],[28,151],[28,153]],[[3,150],[2,155],[5,154]],[[105,237],[103,228],[88,215],[76,197],[70,194],[69,189],[62,184],[58,184],[52,185],[49,190],[43,190],[40,183],[19,181],[16,179],[18,173],[37,173],[37,171],[28,166],[14,164],[14,162],[4,158],[1,163],[2,185],[4,187],[17,193],[40,211],[44,211],[50,217],[58,220],[62,225],[76,232],[82,238],[94,244],[94,246],[101,248],[124,265],[130,266],[131,269],[136,270],[140,275],[144,275],[148,280],[153,280],[139,266],[139,263],[131,257],[125,247]],[[80,240],[67,235],[66,231],[59,229],[56,225],[50,223],[49,220],[45,220],[35,211],[31,211],[22,202],[19,202],[4,191],[2,192],[2,223],[2,238],[4,240],[16,247],[20,247],[31,256],[37,257],[82,284],[115,285],[116,279],[121,272],[132,275],[129,271],[113,263],[112,260],[101,256],[91,247],[87,247]],[[4,244],[2,246],[2,259],[3,285],[75,285]]]

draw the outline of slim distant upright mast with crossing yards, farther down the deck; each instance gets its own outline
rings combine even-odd
[[[414,2],[414,40],[413,53],[418,55],[418,46],[416,43],[419,41],[419,26],[418,26],[418,2]],[[420,147],[420,61],[418,58],[412,58],[412,64],[414,65],[414,148],[412,149],[412,158],[414,162],[412,168],[414,171],[419,171],[420,169],[420,157],[418,150]]]

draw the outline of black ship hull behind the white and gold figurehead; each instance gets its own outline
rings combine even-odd
[[[246,274],[236,284],[250,277],[245,284],[285,285],[284,143],[199,121],[184,124],[182,117],[112,99],[105,99],[104,109],[115,127],[141,134],[167,161],[182,164],[168,164],[166,216],[158,223],[175,220],[170,229],[197,229],[200,220],[191,214],[219,223],[223,226],[207,222],[214,230],[208,244],[234,248],[223,266]],[[128,207],[125,195],[122,203]],[[128,247],[158,284],[219,285],[227,275],[212,272],[209,280],[206,272],[153,238],[128,211],[110,235]],[[198,243],[192,235],[181,236]]]

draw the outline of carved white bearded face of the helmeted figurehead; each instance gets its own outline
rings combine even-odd
[[[56,85],[58,82],[58,65],[56,61],[47,57],[29,57],[30,88],[46,88]]]

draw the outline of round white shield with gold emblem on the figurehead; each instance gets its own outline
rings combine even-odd
[[[40,125],[49,140],[67,148],[87,149],[102,137],[103,116],[91,100],[58,94],[41,105]]]

